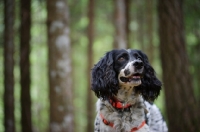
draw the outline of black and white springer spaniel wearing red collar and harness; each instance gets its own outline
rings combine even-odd
[[[152,103],[161,82],[140,50],[112,50],[92,69],[92,90],[99,98],[95,132],[167,132]]]

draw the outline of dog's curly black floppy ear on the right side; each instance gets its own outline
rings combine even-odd
[[[149,64],[146,54],[139,51],[143,56],[144,62],[144,75],[142,78],[142,84],[136,87],[136,92],[142,94],[143,98],[147,101],[154,101],[160,94],[162,83],[155,75],[153,67]]]

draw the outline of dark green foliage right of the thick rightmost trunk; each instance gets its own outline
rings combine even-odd
[[[190,61],[190,73],[193,76],[193,86],[196,99],[200,103],[200,1],[184,1],[185,36]]]

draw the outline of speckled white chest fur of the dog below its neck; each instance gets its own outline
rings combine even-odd
[[[120,95],[120,92],[122,94]],[[124,132],[130,131],[134,127],[138,127],[145,120],[144,102],[143,98],[139,95],[129,95],[125,97],[123,90],[119,91],[117,97],[120,99],[126,99],[125,104],[130,103],[131,106],[128,109],[117,109],[113,107],[108,100],[98,101],[100,108],[98,109],[99,114],[105,117],[105,120],[114,124],[115,130],[122,130]],[[101,118],[101,117],[100,117]],[[105,124],[101,122],[103,126]],[[113,130],[112,127],[106,126],[107,129]]]

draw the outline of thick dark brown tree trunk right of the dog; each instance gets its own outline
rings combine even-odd
[[[159,35],[170,132],[200,131],[185,47],[182,0],[159,0]]]

